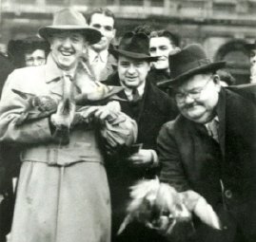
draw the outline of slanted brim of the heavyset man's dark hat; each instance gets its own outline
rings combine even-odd
[[[157,84],[157,86],[164,87],[164,86],[167,86],[167,85],[176,85],[180,82],[183,82],[183,81],[187,80],[187,78],[189,78],[193,75],[204,73],[204,72],[207,72],[207,71],[215,71],[215,70],[218,70],[218,69],[221,69],[221,68],[225,67],[225,65],[226,65],[226,62],[216,62],[216,63],[211,63],[211,64],[208,64],[208,65],[202,65],[202,66],[190,69],[187,72],[184,72],[183,74],[177,76],[174,79],[170,79],[170,80],[167,80],[167,81],[160,82],[160,83]]]

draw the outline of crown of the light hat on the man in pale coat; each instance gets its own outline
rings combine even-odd
[[[86,18],[74,9],[62,9],[53,16],[52,26],[81,26],[87,27]]]

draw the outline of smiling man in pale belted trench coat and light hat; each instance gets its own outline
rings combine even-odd
[[[98,117],[106,123],[113,111],[103,105],[89,119],[81,112],[72,115],[71,102],[73,95],[94,84],[79,62],[88,44],[99,42],[101,34],[73,9],[57,12],[53,24],[40,28],[39,34],[49,41],[47,64],[12,72],[0,102],[0,140],[25,146],[10,241],[110,241],[104,147],[94,121]],[[57,112],[26,120],[32,103],[18,95],[19,91],[44,96],[39,102],[41,110],[57,103]],[[77,115],[85,119],[75,123]],[[117,116],[111,115],[111,119],[116,122]],[[124,121],[130,120],[125,117]],[[128,131],[133,125],[129,127]],[[58,133],[59,129],[63,132]]]

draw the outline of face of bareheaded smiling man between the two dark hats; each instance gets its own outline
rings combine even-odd
[[[168,54],[174,46],[167,37],[152,37],[149,41],[151,56],[159,56],[158,61],[152,63],[156,69],[168,69]]]

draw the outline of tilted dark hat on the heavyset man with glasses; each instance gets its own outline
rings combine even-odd
[[[191,44],[180,51],[169,55],[169,69],[171,80],[158,83],[158,86],[167,86],[186,81],[187,78],[207,71],[223,68],[226,62],[212,63],[207,58],[207,53],[201,45]]]

